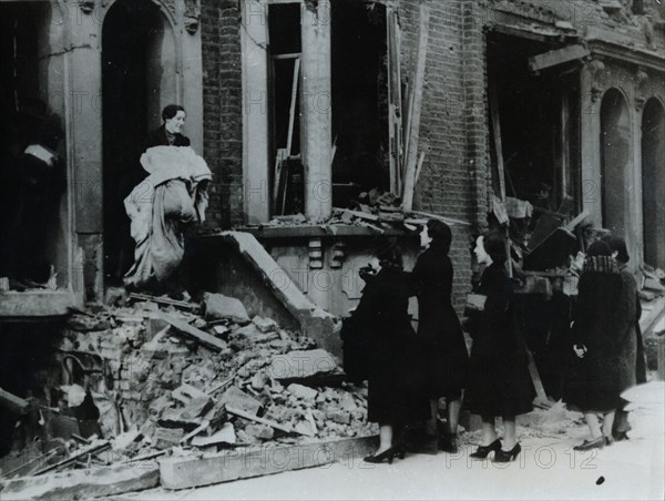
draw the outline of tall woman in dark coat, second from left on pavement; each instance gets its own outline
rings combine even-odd
[[[452,307],[452,262],[448,257],[452,233],[431,219],[420,234],[427,249],[411,272],[418,294],[418,341],[422,349],[424,385],[437,419],[439,398],[447,401],[447,429],[439,436],[439,449],[457,452],[457,428],[466,385],[469,354],[457,313]]]

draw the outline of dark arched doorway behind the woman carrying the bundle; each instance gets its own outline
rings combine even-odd
[[[164,68],[161,64],[165,41],[160,17],[158,8],[149,0],[121,0],[104,18],[102,127],[106,285],[120,285],[133,262],[134,242],[123,200],[146,175],[139,160],[146,134],[154,126],[149,124],[149,112],[155,108],[152,105],[155,100],[160,100],[160,89],[156,92],[149,89],[149,80],[154,76],[151,73],[168,71],[166,64]],[[160,109],[158,102],[156,108]]]

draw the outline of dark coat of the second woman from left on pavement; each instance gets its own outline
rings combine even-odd
[[[418,294],[418,341],[424,370],[422,391],[431,398],[461,398],[469,354],[452,307],[452,263],[441,246],[423,252],[411,272]]]

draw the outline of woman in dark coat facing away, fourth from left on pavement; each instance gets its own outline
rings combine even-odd
[[[569,374],[564,400],[584,413],[591,439],[576,450],[600,449],[611,437],[620,407],[620,347],[627,335],[621,311],[623,279],[604,242],[589,246],[577,286],[573,340],[576,360]],[[603,425],[598,422],[603,416]]]

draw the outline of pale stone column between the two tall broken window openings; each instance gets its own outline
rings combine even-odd
[[[330,24],[329,0],[301,3],[300,136],[305,215],[310,221],[329,218],[332,208]]]

